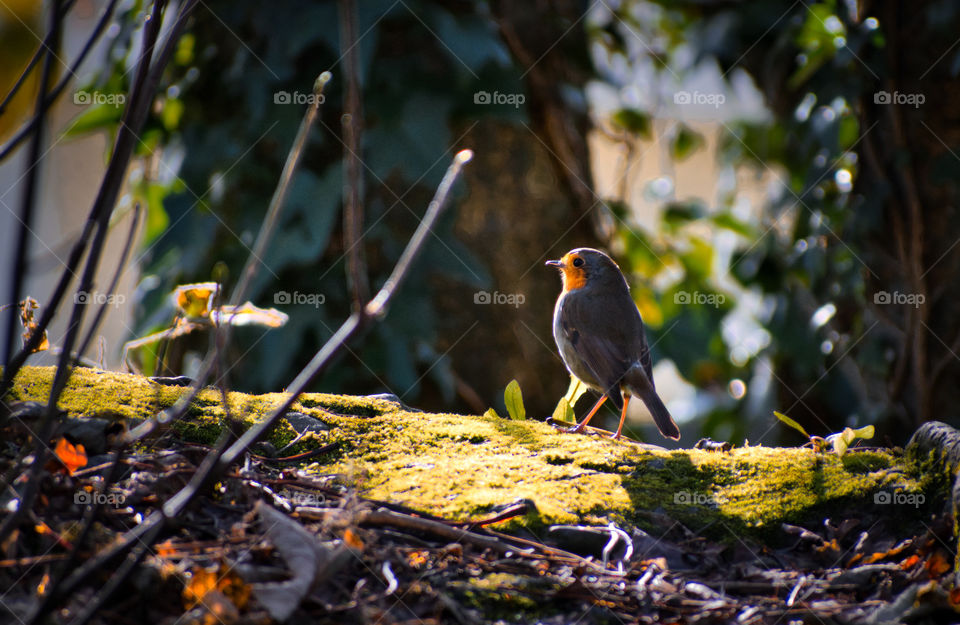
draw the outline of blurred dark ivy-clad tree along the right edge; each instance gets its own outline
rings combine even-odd
[[[772,184],[716,278],[729,273],[737,293],[760,296],[751,316],[764,340],[743,350],[742,334],[721,331],[723,347],[704,350],[717,339],[715,318],[689,324],[703,331],[683,345],[661,337],[699,386],[739,378],[766,396],[753,404],[763,408],[754,432],[767,430],[770,407],[810,431],[876,423],[899,441],[929,419],[957,423],[958,11],[947,2],[627,3],[602,29],[614,55],[629,50],[625,31],[649,33],[642,55],[668,92],[715,68],[716,93],[728,94],[719,109],[741,71],[763,95],[765,119],[718,121],[720,161],[752,165]],[[707,215],[736,213],[735,199],[725,194]],[[702,273],[683,264],[687,278]],[[717,404],[708,426],[750,416],[751,402],[729,412]]]

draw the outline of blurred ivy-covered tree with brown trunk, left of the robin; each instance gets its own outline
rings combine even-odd
[[[167,294],[176,284],[210,279],[215,267],[228,283],[236,276],[325,69],[334,80],[254,289],[256,303],[278,305],[291,321],[276,332],[238,334],[232,383],[282,387],[349,313],[342,122],[353,53],[363,107],[362,248],[374,287],[452,154],[471,147],[477,158],[469,194],[427,248],[419,279],[320,387],[482,412],[517,377],[532,405],[552,409],[567,379],[549,347],[557,280],[542,260],[548,246],[556,253],[598,243],[581,219],[596,200],[579,6],[558,2],[541,19],[514,15],[509,4],[363,2],[354,42],[342,36],[351,4],[214,3],[196,13],[136,176],[148,210],[138,333],[169,322]],[[131,6],[121,19],[135,24],[142,10]],[[112,45],[118,61],[98,80],[125,71],[130,33]],[[480,292],[520,293],[525,303],[483,305]],[[310,303],[298,305],[304,295]],[[205,345],[174,347],[167,362],[189,367],[188,351]]]

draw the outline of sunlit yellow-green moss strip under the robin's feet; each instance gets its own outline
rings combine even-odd
[[[45,401],[52,376],[52,368],[25,368],[14,397]],[[60,407],[73,416],[145,419],[186,392],[140,376],[78,369]],[[249,425],[283,398],[229,393],[229,412]],[[537,421],[412,412],[380,399],[326,394],[303,395],[293,409],[330,428],[302,439],[295,451],[338,443],[308,465],[309,471],[336,474],[372,499],[450,519],[484,516],[518,499],[536,504],[536,514],[514,519],[505,529],[610,521],[647,527],[652,516],[663,514],[694,531],[739,534],[838,518],[843,511],[856,514],[873,508],[877,493],[916,493],[928,486],[911,475],[900,455],[885,450],[853,451],[843,458],[760,446],[729,453],[658,451],[561,433]],[[183,438],[209,443],[225,415],[219,390],[210,388],[173,427]],[[279,447],[294,435],[284,421],[270,442]],[[912,506],[886,511],[921,513]]]

